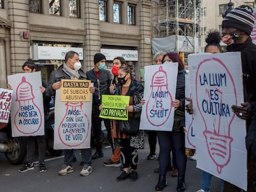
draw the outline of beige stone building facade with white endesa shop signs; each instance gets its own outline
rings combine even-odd
[[[85,71],[94,67],[93,56],[103,52],[107,65],[123,56],[139,69],[152,64],[150,0],[2,0],[0,1],[1,87],[6,75],[22,72],[32,58],[41,75],[49,74],[75,49]]]

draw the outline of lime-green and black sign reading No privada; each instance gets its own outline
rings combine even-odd
[[[128,120],[130,96],[103,94],[101,99],[102,109],[100,117],[103,119]]]

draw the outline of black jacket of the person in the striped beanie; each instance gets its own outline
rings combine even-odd
[[[233,44],[227,51],[240,51],[244,83],[244,101],[252,106],[252,118],[247,120],[246,148],[256,159],[256,45],[249,37],[245,43]]]

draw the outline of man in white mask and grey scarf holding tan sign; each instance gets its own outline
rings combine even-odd
[[[60,65],[56,71],[51,73],[49,83],[46,89],[48,96],[55,96],[56,90],[61,88],[61,79],[79,79],[85,80],[85,72],[83,72],[81,63],[79,62],[79,54],[75,51],[66,53],[64,64]],[[89,88],[90,93],[95,93],[95,88]],[[74,171],[73,169],[73,149],[64,150],[64,167],[59,171],[59,175],[67,175]],[[87,176],[92,173],[92,149],[81,149],[83,169],[80,175]]]

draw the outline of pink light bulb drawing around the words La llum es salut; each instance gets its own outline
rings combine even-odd
[[[151,78],[150,87],[151,94],[146,106],[147,119],[151,125],[159,127],[169,119],[173,106],[173,97],[168,90],[168,76],[162,66]]]

